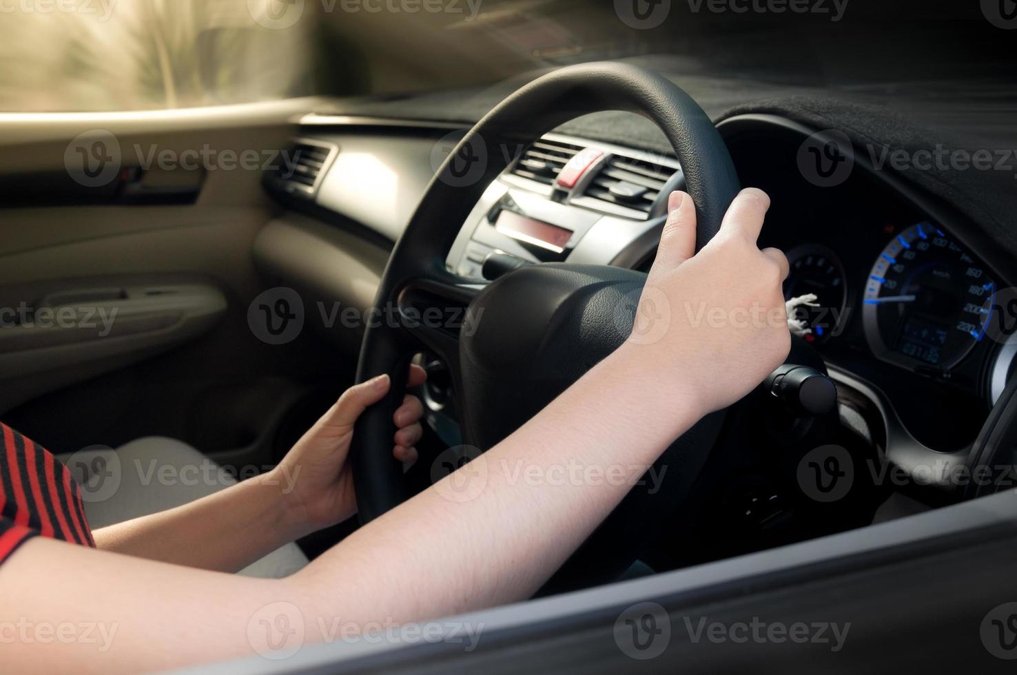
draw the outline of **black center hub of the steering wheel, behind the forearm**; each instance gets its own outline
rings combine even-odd
[[[543,264],[487,287],[461,336],[466,441],[487,449],[522,426],[629,336],[646,275]]]

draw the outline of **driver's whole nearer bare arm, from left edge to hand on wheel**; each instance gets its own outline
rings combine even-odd
[[[758,191],[739,196],[722,233],[687,261],[695,210],[687,196],[673,204],[648,284],[672,305],[664,339],[626,344],[479,466],[425,490],[288,579],[245,579],[28,542],[0,568],[0,621],[117,628],[104,652],[80,641],[45,650],[21,641],[5,649],[5,664],[15,671],[153,670],[257,653],[264,649],[262,628],[280,616],[288,625],[299,621],[304,642],[313,642],[335,636],[337,617],[349,626],[345,634],[368,622],[423,620],[527,598],[675,437],[743,396],[786,355],[786,320],[775,320],[783,312],[786,260],[755,244],[768,203]],[[683,298],[723,309],[728,320],[693,325]],[[769,318],[731,320],[754,308]],[[354,391],[344,419],[356,419],[369,405],[364,385]],[[623,468],[629,480],[563,486],[519,480],[520,468],[546,472],[569,459],[604,472]],[[450,482],[463,472],[475,477],[467,479],[471,498],[450,498]]]

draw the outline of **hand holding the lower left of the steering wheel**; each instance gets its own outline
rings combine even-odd
[[[410,366],[407,386],[427,379],[420,366]],[[341,523],[357,511],[353,474],[347,463],[353,425],[357,418],[388,392],[387,375],[350,387],[332,409],[297,441],[283,462],[273,470],[273,478],[284,488],[287,519],[304,534]],[[414,447],[423,434],[420,400],[407,395],[393,416],[397,431],[393,454],[401,462],[415,462]]]

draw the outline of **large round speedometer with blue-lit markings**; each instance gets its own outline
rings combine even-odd
[[[947,372],[985,334],[996,284],[935,225],[897,235],[869,274],[862,318],[869,346],[898,365]]]

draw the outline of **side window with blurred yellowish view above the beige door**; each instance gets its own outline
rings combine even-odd
[[[0,112],[164,110],[309,94],[272,0],[0,2]]]

